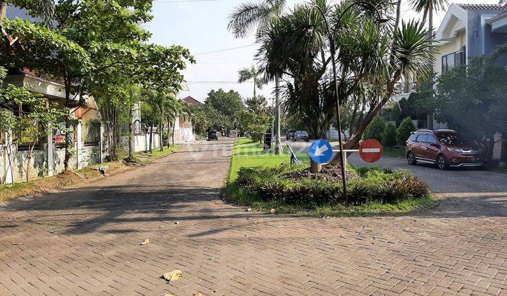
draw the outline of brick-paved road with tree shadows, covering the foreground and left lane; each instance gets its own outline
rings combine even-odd
[[[505,178],[409,216],[255,214],[218,200],[213,144],[0,212],[0,295],[507,295]]]

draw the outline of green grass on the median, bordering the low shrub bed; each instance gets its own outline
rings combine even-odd
[[[298,155],[298,159],[308,164],[309,159],[306,154]],[[253,211],[270,212],[270,209],[275,209],[277,214],[294,214],[297,216],[365,216],[382,213],[402,214],[429,206],[432,202],[432,197],[425,197],[421,199],[407,199],[397,204],[370,203],[361,206],[336,204],[302,208],[278,202],[264,202],[238,189],[235,181],[239,168],[254,166],[275,167],[280,166],[282,163],[289,162],[289,154],[275,155],[264,153],[261,144],[253,143],[245,138],[238,139],[232,150],[229,182],[227,183],[227,187],[225,187],[225,199],[227,202],[232,202],[241,206],[249,206]]]

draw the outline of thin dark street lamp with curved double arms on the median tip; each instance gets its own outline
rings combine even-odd
[[[349,6],[347,6],[344,11],[342,12],[342,14],[340,14],[338,20],[337,20],[337,24],[339,25],[340,23],[342,23],[342,18],[344,16],[344,14],[346,13],[346,11],[349,11],[349,9],[351,9],[353,6],[355,5],[361,5],[361,4],[365,4],[365,5],[368,5],[368,6],[371,6],[372,8],[375,9],[375,12],[377,13],[377,19],[375,20],[375,24],[377,25],[380,25],[382,23],[387,23],[389,21],[389,19],[387,18],[382,18],[382,16],[380,15],[380,11],[377,9],[377,7],[375,7],[375,5],[371,4],[370,2],[368,1],[356,1],[356,2],[353,2],[352,4],[350,4]],[[320,8],[320,6],[318,5],[313,5],[311,8],[310,8],[310,11],[312,11],[313,9],[317,9],[317,11],[320,12],[320,14],[323,16],[324,18],[324,23],[325,23],[325,26],[326,26],[326,30],[327,30],[327,37],[330,39],[330,48],[331,48],[331,63],[332,63],[332,68],[333,68],[333,79],[334,79],[334,93],[336,95],[336,100],[337,100],[337,119],[338,119],[338,141],[339,141],[339,153],[341,154],[340,156],[340,165],[342,166],[342,184],[343,184],[343,187],[344,187],[344,199],[345,201],[347,201],[347,190],[346,190],[346,168],[345,168],[345,152],[344,152],[344,147],[343,147],[343,142],[342,142],[342,116],[341,116],[341,108],[340,108],[340,100],[339,100],[339,97],[338,97],[338,80],[337,80],[337,69],[336,69],[336,58],[335,58],[335,55],[336,55],[336,49],[334,47],[334,34],[332,34],[331,30],[330,30],[330,26],[329,24],[327,23],[327,18],[325,16],[325,13],[323,11],[322,8]],[[310,25],[308,28],[307,28],[307,32],[308,34],[311,34],[311,32],[313,32],[313,28],[315,27],[315,25]],[[336,30],[334,31],[336,32]],[[334,33],[333,32],[333,33]]]

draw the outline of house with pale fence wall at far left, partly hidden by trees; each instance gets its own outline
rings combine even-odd
[[[23,10],[9,7],[8,18],[28,18]],[[30,18],[29,18],[30,19]],[[36,73],[23,69],[9,69],[2,87],[7,85],[26,87],[31,92],[42,94],[49,103],[56,102],[59,106],[65,104],[65,87],[61,82],[44,78]],[[59,128],[49,131],[44,139],[39,140],[33,152],[30,178],[55,175],[64,171],[63,159],[65,137],[73,140],[73,154],[70,166],[84,168],[89,164],[100,163],[103,159],[101,116],[92,97],[84,97],[86,107],[76,106],[73,109],[73,118],[78,123],[74,125],[74,132],[65,135]],[[77,102],[77,99],[75,99]],[[77,104],[76,104],[77,105]],[[65,123],[60,123],[65,126]],[[27,164],[27,143],[18,132],[8,137],[6,131],[1,131],[0,142],[0,184],[20,182],[25,180]]]

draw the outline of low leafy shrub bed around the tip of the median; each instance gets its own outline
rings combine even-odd
[[[283,178],[287,172],[302,167],[283,165],[275,168],[241,168],[237,185],[265,202],[281,202],[299,206],[325,206],[343,203],[339,183],[324,179],[294,181]],[[395,203],[402,199],[423,198],[430,189],[410,171],[368,167],[358,168],[359,180],[349,180],[349,200],[352,204],[369,202]]]

